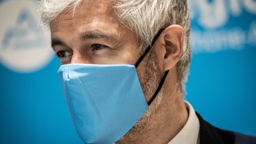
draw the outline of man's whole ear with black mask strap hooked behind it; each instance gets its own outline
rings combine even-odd
[[[162,31],[155,43],[156,57],[161,71],[172,69],[180,60],[183,52],[183,27],[170,25]]]

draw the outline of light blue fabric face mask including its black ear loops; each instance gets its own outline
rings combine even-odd
[[[153,43],[159,36],[155,36]],[[85,143],[113,143],[124,136],[148,110],[167,76],[146,103],[136,65],[62,65],[57,72],[76,132]]]

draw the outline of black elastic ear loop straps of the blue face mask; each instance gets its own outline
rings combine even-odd
[[[160,36],[160,34],[162,33],[162,31],[164,31],[164,28],[162,28],[161,30],[158,31],[158,33],[156,34],[156,36],[153,38],[151,45],[146,48],[146,50],[145,50],[145,52],[143,53],[143,55],[140,56],[139,60],[137,60],[137,62],[136,62],[136,64],[135,64],[135,68],[137,68],[137,66],[139,66],[140,62],[142,62],[142,60],[144,59],[144,57],[148,54],[149,50],[151,50],[153,44],[154,44],[155,41],[158,39],[158,37]],[[153,94],[151,100],[149,100],[148,105],[150,105],[150,104],[153,102],[153,100],[155,100],[156,96],[158,95],[159,91],[160,91],[161,88],[162,88],[162,85],[164,85],[164,81],[165,81],[165,78],[166,78],[167,75],[168,75],[168,72],[169,72],[169,70],[165,72],[164,76],[162,77],[162,79],[161,79],[161,81],[160,81],[160,83],[159,83],[159,85],[158,85],[158,88],[157,88],[156,91],[155,91],[155,94]]]

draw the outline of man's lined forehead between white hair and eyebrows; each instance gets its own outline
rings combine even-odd
[[[103,30],[119,29],[120,26],[111,2],[100,0],[82,1],[74,13],[71,12],[71,9],[66,9],[50,23],[52,33],[61,31],[63,28],[65,31],[68,29],[73,32],[79,29],[88,30],[90,28],[101,28]]]

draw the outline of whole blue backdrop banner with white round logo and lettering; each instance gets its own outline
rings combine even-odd
[[[213,125],[256,136],[256,1],[188,2],[185,99]],[[82,143],[38,9],[33,0],[0,0],[0,143]]]

